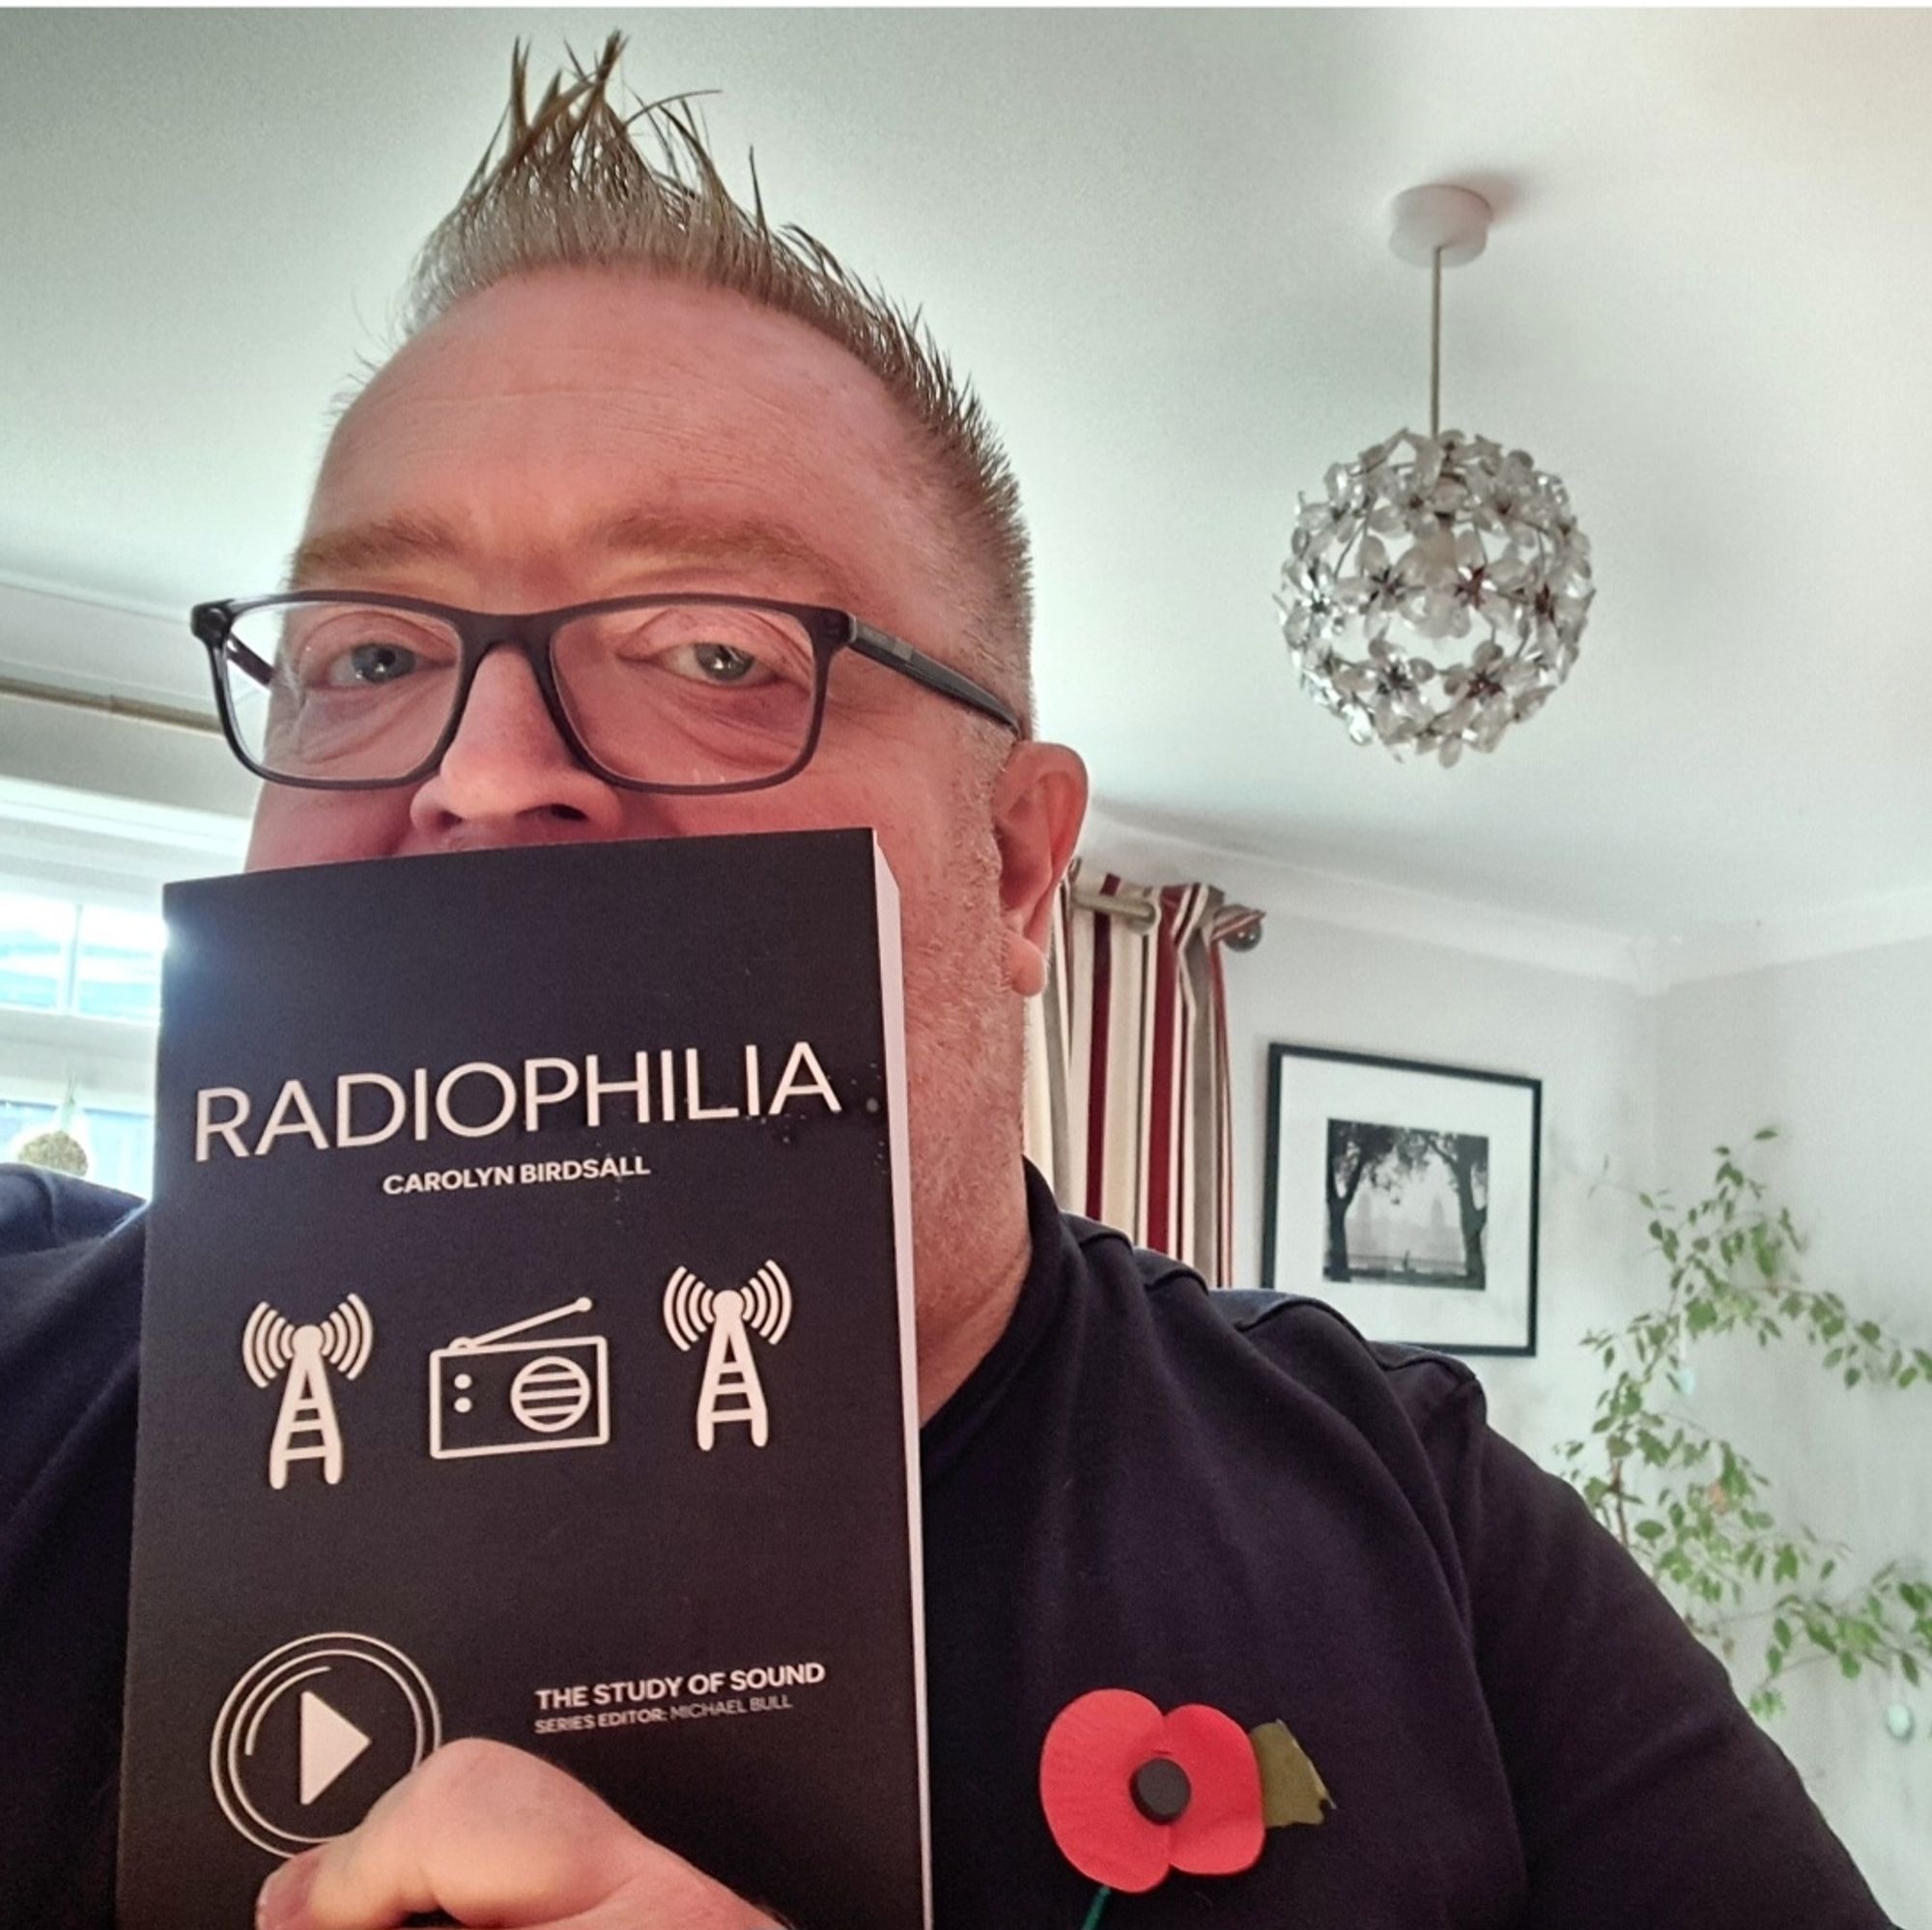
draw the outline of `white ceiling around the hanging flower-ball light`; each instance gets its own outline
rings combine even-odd
[[[0,14],[0,580],[272,583],[510,41],[612,27],[980,383],[1113,817],[1629,933],[1932,885],[1924,12]],[[1445,423],[1569,481],[1600,585],[1447,773],[1316,713],[1271,607],[1294,493],[1426,413],[1430,180],[1501,209]],[[95,655],[191,692],[180,636]]]

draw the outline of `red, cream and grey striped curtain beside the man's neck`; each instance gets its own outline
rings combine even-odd
[[[1026,1155],[1070,1213],[1231,1277],[1235,1227],[1221,947],[1260,912],[1211,885],[1068,866],[1047,989],[1028,1005]]]

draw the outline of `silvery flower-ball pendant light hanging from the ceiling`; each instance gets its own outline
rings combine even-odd
[[[1490,203],[1412,187],[1393,213],[1391,247],[1432,276],[1430,433],[1337,462],[1321,497],[1300,498],[1275,601],[1302,690],[1356,744],[1453,765],[1549,701],[1596,591],[1563,483],[1439,427],[1441,270],[1482,253]]]

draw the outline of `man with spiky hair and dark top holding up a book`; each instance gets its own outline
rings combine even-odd
[[[251,864],[877,827],[906,925],[941,1926],[1882,1924],[1718,1663],[1488,1433],[1466,1370],[1308,1302],[1236,1331],[1190,1273],[1063,1219],[1026,1173],[1022,999],[1086,786],[1024,728],[1010,477],[929,344],[736,209],[676,110],[647,116],[659,162],[636,155],[614,60],[535,114],[518,68],[502,153],[425,249],[410,342],[334,433],[294,583],[466,610],[668,589],[827,605],[995,701],[844,653],[794,779],[665,794],[612,781],[624,746],[599,738],[589,684],[553,709],[502,647],[419,779],[267,784]],[[417,668],[384,645],[340,676]],[[746,665],[705,645],[686,670]],[[8,1926],[110,1913],[126,1206],[25,1175],[0,1192]],[[1039,1802],[1053,1717],[1105,1687],[1287,1721],[1333,1812],[1273,1831],[1246,1872],[1109,1903]],[[284,1866],[259,1922],[771,1922],[674,1851],[533,1756],[454,1743]]]

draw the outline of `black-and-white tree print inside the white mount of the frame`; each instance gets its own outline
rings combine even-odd
[[[1474,1132],[1329,1121],[1321,1277],[1488,1285],[1490,1142]]]

